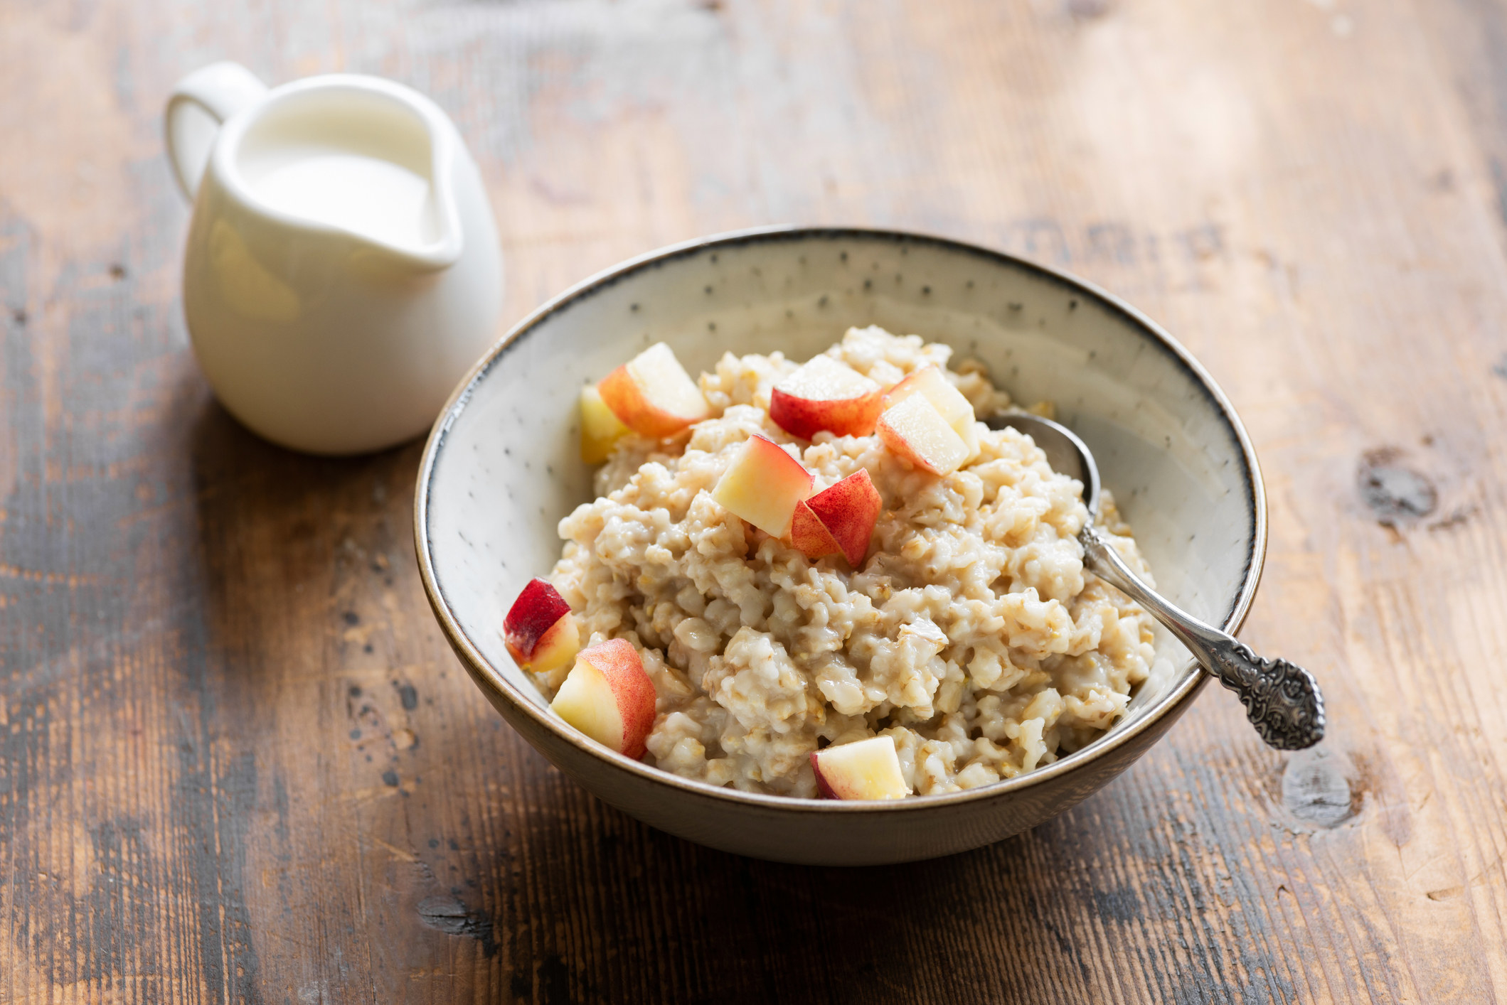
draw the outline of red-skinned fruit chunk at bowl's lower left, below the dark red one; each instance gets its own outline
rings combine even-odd
[[[582,649],[550,702],[561,719],[597,743],[633,758],[654,726],[654,681],[627,639]]]

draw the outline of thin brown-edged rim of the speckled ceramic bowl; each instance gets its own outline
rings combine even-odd
[[[1111,312],[1118,312],[1127,319],[1139,325],[1145,333],[1148,333],[1154,342],[1159,342],[1162,348],[1172,356],[1189,374],[1194,375],[1198,386],[1204,390],[1209,399],[1215,404],[1219,416],[1224,419],[1225,425],[1230,428],[1236,443],[1240,446],[1240,457],[1245,461],[1245,479],[1249,488],[1249,496],[1246,505],[1249,506],[1249,517],[1252,518],[1254,527],[1251,533],[1251,551],[1246,556],[1245,577],[1240,585],[1240,591],[1236,595],[1234,604],[1222,621],[1225,631],[1231,634],[1239,630],[1240,624],[1245,621],[1246,613],[1251,609],[1251,601],[1255,598],[1257,586],[1261,582],[1261,567],[1266,559],[1266,490],[1261,482],[1261,469],[1255,460],[1255,451],[1251,446],[1251,438],[1246,435],[1245,426],[1240,423],[1240,417],[1236,414],[1234,407],[1230,399],[1221,390],[1219,384],[1215,383],[1209,371],[1194,359],[1194,356],[1181,347],[1171,334],[1162,330],[1148,316],[1132,307],[1129,303],[1115,297],[1111,292],[1094,286],[1070,273],[1065,273],[1040,262],[1032,262],[1029,259],[1019,258],[1016,255],[1008,255],[1005,252],[995,252],[977,244],[969,244],[966,241],[957,241],[952,238],[937,237],[931,234],[918,234],[910,231],[889,231],[882,228],[815,228],[815,226],[770,226],[770,228],[750,228],[746,231],[731,231],[726,234],[714,234],[704,238],[696,238],[692,241],[684,241],[680,244],[671,244],[636,258],[630,258],[612,268],[607,268],[595,276],[591,276],[565,292],[559,294],[553,300],[547,301],[533,313],[526,316],[523,321],[515,324],[502,339],[499,339],[481,360],[472,366],[470,372],[460,381],[451,399],[445,404],[445,410],[440,413],[439,419],[434,422],[434,428],[429,432],[429,438],[423,446],[423,460],[419,464],[419,478],[414,487],[414,505],[413,505],[413,536],[414,550],[419,559],[419,576],[423,582],[423,592],[429,598],[429,606],[434,609],[434,616],[440,622],[451,646],[457,654],[469,664],[472,680],[481,687],[490,686],[496,695],[500,695],[509,705],[518,710],[521,714],[529,716],[536,723],[547,728],[556,737],[576,746],[577,749],[591,753],[592,756],[607,762],[613,768],[621,771],[628,771],[639,774],[651,782],[665,785],[669,788],[677,788],[686,796],[695,796],[699,799],[710,800],[726,800],[731,803],[743,803],[750,808],[763,808],[766,811],[775,812],[803,812],[803,814],[915,814],[927,812],[928,809],[937,809],[942,806],[957,806],[961,803],[971,803],[975,800],[990,800],[1004,799],[1011,793],[1029,788],[1032,785],[1043,785],[1052,779],[1081,768],[1091,761],[1109,753],[1115,747],[1130,743],[1141,732],[1153,728],[1157,720],[1174,711],[1178,705],[1191,701],[1204,684],[1209,683],[1209,674],[1203,669],[1195,667],[1192,674],[1188,674],[1188,667],[1192,663],[1183,663],[1178,672],[1188,674],[1188,678],[1181,681],[1177,687],[1171,689],[1166,695],[1162,695],[1156,704],[1145,710],[1135,722],[1127,723],[1118,729],[1114,729],[1108,735],[1094,740],[1081,750],[1074,750],[1067,756],[1053,761],[1052,764],[1017,774],[1011,779],[1002,779],[999,782],[992,782],[989,785],[981,785],[978,788],[969,788],[958,793],[942,793],[937,796],[915,796],[910,799],[900,800],[883,800],[883,802],[842,802],[842,800],[826,800],[826,799],[802,799],[794,796],[766,796],[763,793],[743,793],[735,788],[720,788],[708,785],[705,782],[698,782],[692,779],[672,774],[669,771],[662,771],[660,768],[643,764],[642,761],[633,761],[615,750],[586,740],[583,735],[567,726],[564,722],[552,717],[547,710],[536,705],[526,695],[523,695],[517,687],[514,687],[502,674],[499,674],[481,654],[476,645],[467,636],[466,630],[461,627],[455,613],[451,610],[449,603],[445,600],[445,591],[440,588],[439,580],[434,576],[434,557],[429,551],[429,535],[428,535],[428,496],[431,484],[434,479],[434,466],[442,449],[445,449],[446,434],[455,420],[466,410],[470,402],[472,392],[476,384],[491,371],[493,365],[500,360],[508,350],[526,338],[535,327],[549,319],[550,316],[570,309],[574,303],[585,300],[595,294],[597,291],[613,286],[625,279],[637,276],[650,268],[657,268],[666,262],[692,258],[696,255],[704,255],[716,252],[717,249],[728,247],[744,247],[750,244],[779,244],[779,243],[802,243],[809,240],[835,241],[835,240],[854,240],[854,241],[895,241],[900,244],[910,246],[930,246],[942,249],[946,252],[969,255],[974,258],[984,259],[992,265],[1004,265],[1008,268],[1020,270],[1025,273],[1034,273],[1041,279],[1055,282],[1062,286],[1068,286],[1081,295],[1091,297],[1097,300],[1102,306],[1108,307]],[[544,752],[541,752],[544,753]]]

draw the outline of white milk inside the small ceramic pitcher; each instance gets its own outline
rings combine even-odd
[[[252,182],[256,197],[289,215],[399,247],[436,240],[429,181],[362,154],[309,151]]]

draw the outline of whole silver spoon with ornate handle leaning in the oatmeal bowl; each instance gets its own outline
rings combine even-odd
[[[1032,414],[996,416],[989,426],[1020,429],[1041,448],[1053,472],[1084,484],[1088,523],[1078,535],[1084,545],[1084,564],[1151,612],[1209,674],[1239,695],[1246,717],[1267,744],[1278,750],[1302,750],[1323,740],[1323,695],[1308,671],[1287,660],[1263,660],[1234,636],[1171,604],[1130,571],[1094,526],[1099,466],[1082,440],[1067,426]]]

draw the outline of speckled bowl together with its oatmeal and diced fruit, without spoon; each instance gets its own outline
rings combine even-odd
[[[859,229],[677,246],[523,321],[429,438],[423,585],[502,716],[656,827],[829,865],[998,841],[1204,683],[1084,571],[1082,487],[987,425],[1013,408],[1094,449],[1138,570],[1239,625],[1264,499],[1203,368],[1076,279]]]

